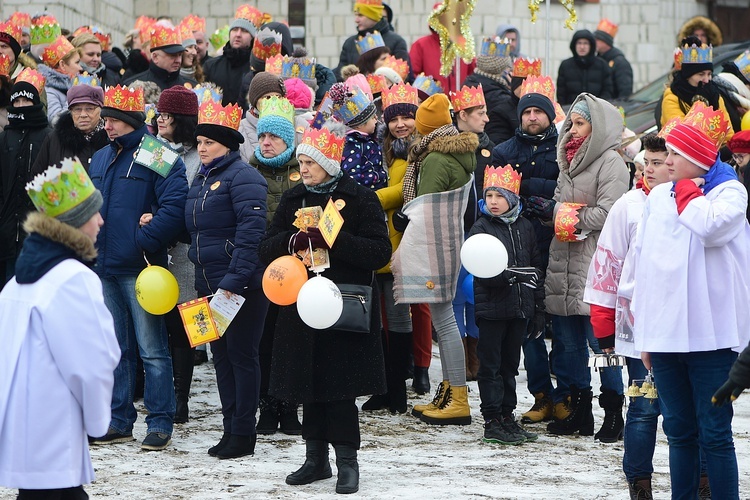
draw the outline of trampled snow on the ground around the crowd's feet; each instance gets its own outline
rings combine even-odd
[[[441,378],[437,346],[430,375]],[[594,376],[598,384],[598,376]],[[410,413],[361,413],[362,449],[359,453],[360,490],[353,498],[492,499],[628,499],[621,469],[622,441],[595,442],[593,437],[551,436],[544,425],[527,428],[540,434],[522,446],[481,442],[479,391],[469,382],[473,422],[469,426],[437,427],[421,423]],[[598,393],[598,387],[594,388]],[[430,396],[431,397],[431,396]],[[409,394],[410,406],[430,397]],[[526,390],[526,374],[518,377],[518,413],[533,404]],[[360,398],[361,405],[366,398]],[[750,393],[734,404],[734,436],[740,464],[740,494],[750,498]],[[604,412],[594,402],[595,427]],[[92,448],[97,480],[86,487],[92,498],[214,499],[214,498],[341,498],[334,492],[334,476],[306,486],[288,486],[287,474],[304,461],[305,446],[298,436],[260,436],[255,455],[218,460],[206,450],[221,437],[221,414],[213,367],[196,367],[190,399],[190,422],[175,426],[172,445],[161,452],[145,452],[145,410],[139,405],[137,441]],[[669,497],[666,437],[659,431],[653,478],[656,498]],[[0,499],[15,498],[0,488]]]

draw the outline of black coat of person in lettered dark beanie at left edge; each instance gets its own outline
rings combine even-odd
[[[43,113],[40,111],[40,113]],[[0,133],[0,261],[14,259],[26,237],[26,214],[34,210],[26,184],[47,169],[35,163],[51,129],[6,128]]]

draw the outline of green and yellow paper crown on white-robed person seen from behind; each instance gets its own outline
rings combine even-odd
[[[96,188],[78,158],[65,158],[61,167],[51,166],[26,184],[37,210],[57,217],[83,203]]]

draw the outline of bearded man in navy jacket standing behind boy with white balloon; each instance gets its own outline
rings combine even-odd
[[[542,94],[529,93],[518,102],[521,125],[514,137],[492,150],[494,165],[510,164],[521,172],[521,197],[540,196],[552,199],[560,169],[557,166],[557,127],[555,108]],[[536,243],[541,256],[541,269],[546,271],[549,245],[554,231],[543,226],[537,217],[526,214],[536,231]],[[532,336],[533,337],[533,336]],[[542,422],[552,418],[552,380],[544,336],[526,338],[523,342],[524,366],[528,373],[529,392],[534,395],[534,406],[521,419]]]

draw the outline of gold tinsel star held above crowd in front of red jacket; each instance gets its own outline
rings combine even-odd
[[[457,57],[469,64],[474,59],[474,35],[469,20],[476,0],[445,0],[427,22],[440,36],[440,74],[448,76]]]

